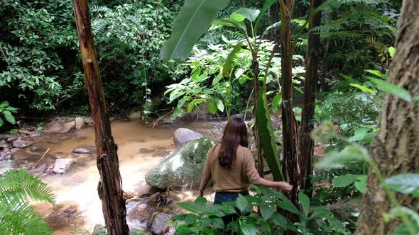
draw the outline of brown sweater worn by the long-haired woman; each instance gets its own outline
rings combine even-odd
[[[224,192],[242,192],[259,180],[253,155],[248,148],[239,145],[236,151],[236,160],[232,168],[223,168],[218,161],[219,145],[209,149],[200,190],[204,190],[208,181],[212,178],[214,190]]]

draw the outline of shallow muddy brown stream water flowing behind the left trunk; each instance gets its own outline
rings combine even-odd
[[[153,129],[142,122],[113,122],[112,134],[119,145],[119,171],[123,181],[123,189],[133,196],[153,193],[154,189],[144,180],[147,171],[156,166],[163,156],[176,149],[173,142],[173,132],[178,127],[189,127],[202,132],[208,137],[214,137],[213,132],[220,134],[217,122],[212,122],[213,130],[209,130],[206,122],[185,122],[180,125],[165,125]],[[218,128],[219,129],[219,128]],[[214,131],[215,130],[215,131]],[[36,210],[46,218],[56,234],[72,234],[76,227],[82,231],[92,231],[95,224],[104,224],[102,204],[97,195],[99,173],[97,171],[95,154],[73,154],[73,149],[94,147],[94,130],[87,127],[67,134],[45,134],[34,137],[33,147],[48,149],[48,154],[39,166],[52,166],[57,157],[65,156],[76,159],[67,173],[43,174],[39,177],[53,188],[57,195],[55,206],[36,204]],[[22,149],[13,155],[13,161],[20,168],[31,168],[40,156],[31,152],[31,148]],[[172,192],[173,200],[191,201],[196,192],[182,190]],[[207,195],[212,200],[213,195]],[[130,223],[130,222],[129,222]]]

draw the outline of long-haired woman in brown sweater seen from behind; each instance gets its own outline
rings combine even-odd
[[[247,147],[246,123],[241,118],[233,118],[224,129],[221,144],[208,151],[202,171],[200,197],[204,195],[205,186],[211,178],[216,191],[214,204],[236,200],[239,193],[249,195],[248,188],[251,184],[278,187],[285,191],[293,188],[293,185],[283,181],[261,178],[256,171],[253,155]],[[223,218],[224,224],[227,225],[233,219]]]

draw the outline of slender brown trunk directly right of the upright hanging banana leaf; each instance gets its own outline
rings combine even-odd
[[[295,146],[296,122],[293,112],[293,52],[291,44],[291,0],[281,0],[281,74],[282,74],[282,134],[283,134],[283,173],[285,179],[293,185],[300,180]],[[288,194],[290,200],[298,205],[298,188]],[[287,214],[292,222],[297,220],[295,214]]]

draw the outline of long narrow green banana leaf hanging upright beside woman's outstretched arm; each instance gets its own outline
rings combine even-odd
[[[283,173],[281,162],[279,161],[278,146],[275,142],[271,115],[268,109],[268,101],[266,98],[266,90],[261,88],[259,91],[258,105],[256,109],[256,120],[261,141],[261,148],[266,157],[269,168],[273,175],[273,180],[283,181]]]

